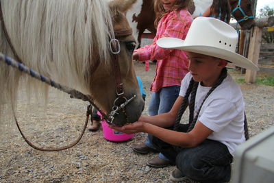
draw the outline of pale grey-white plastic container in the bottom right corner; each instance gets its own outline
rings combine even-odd
[[[274,126],[239,145],[232,169],[232,183],[273,182]]]

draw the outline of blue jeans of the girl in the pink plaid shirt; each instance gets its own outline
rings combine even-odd
[[[168,86],[162,88],[158,92],[153,92],[151,94],[151,99],[149,102],[149,116],[155,116],[158,114],[169,112],[177,97],[179,96],[179,90],[180,86]],[[149,141],[149,137],[145,141],[145,145],[147,145],[147,147],[155,149],[152,143]],[[161,153],[158,156],[164,160],[169,160]]]

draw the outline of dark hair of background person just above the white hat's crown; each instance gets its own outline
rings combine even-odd
[[[231,17],[229,0],[213,0],[210,12],[215,16],[215,18],[219,18],[221,21],[229,23]]]

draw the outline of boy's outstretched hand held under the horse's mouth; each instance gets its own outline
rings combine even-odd
[[[116,127],[114,125],[110,125],[110,127],[116,131],[123,132],[125,134],[135,134],[138,132],[142,132],[144,123],[141,121],[136,121],[129,125],[124,125],[122,127]]]

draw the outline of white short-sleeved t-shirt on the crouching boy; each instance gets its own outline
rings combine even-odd
[[[182,80],[180,96],[184,97],[186,94],[191,77],[192,75],[188,73]],[[194,117],[210,88],[199,84],[195,99]],[[245,103],[242,91],[232,77],[227,74],[225,80],[215,88],[203,103],[198,121],[213,131],[208,139],[223,143],[233,155],[236,147],[245,142],[244,110]]]

